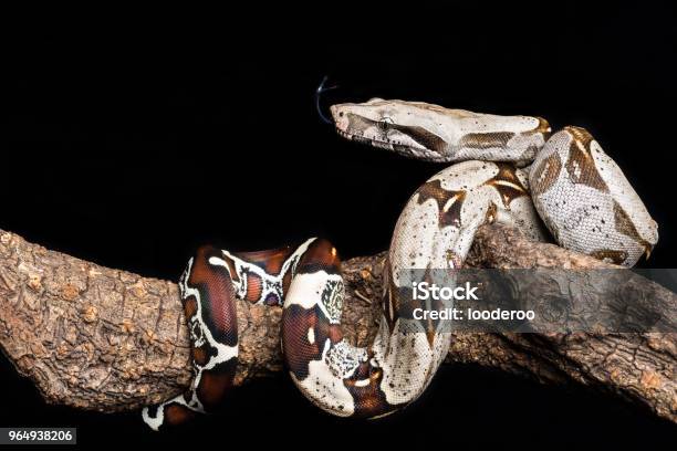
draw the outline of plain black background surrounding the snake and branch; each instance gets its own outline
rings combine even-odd
[[[386,249],[408,196],[442,167],[337,137],[313,103],[329,74],[341,88],[327,103],[397,97],[586,127],[659,223],[645,264],[675,266],[669,6],[332,2],[174,18],[79,10],[76,24],[28,18],[2,44],[0,228],[29,241],[173,280],[208,242],[253,250],[322,235],[344,258]],[[1,426],[74,426],[91,444],[232,445],[229,433],[248,429],[257,444],[342,448],[659,445],[676,436],[603,394],[475,367],[444,368],[419,402],[366,423],[321,413],[280,376],[162,436],[136,413],[44,406],[0,365]]]

